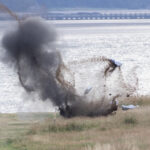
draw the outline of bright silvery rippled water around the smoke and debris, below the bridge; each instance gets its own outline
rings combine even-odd
[[[106,56],[123,63],[126,76],[136,66],[138,94],[149,95],[150,20],[57,21],[53,24],[59,35],[57,48],[65,63]],[[10,22],[0,22],[0,38],[10,28],[13,28]],[[2,57],[2,48],[0,54]],[[25,96],[13,68],[0,62],[0,112],[54,111],[49,102],[35,101]]]

